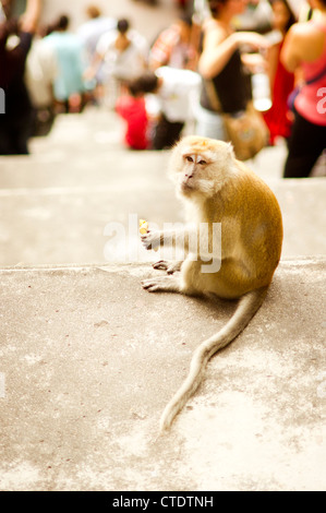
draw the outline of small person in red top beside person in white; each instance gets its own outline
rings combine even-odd
[[[140,80],[131,81],[116,103],[116,111],[124,119],[126,129],[124,142],[132,150],[147,150],[148,141],[148,116],[144,92]]]

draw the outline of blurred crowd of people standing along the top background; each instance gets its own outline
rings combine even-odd
[[[2,0],[0,154],[27,154],[32,135],[87,104],[117,111],[130,148],[170,147],[185,127],[226,140],[222,114],[253,100],[269,144],[287,141],[283,176],[307,177],[326,147],[326,0],[178,3],[180,16],[148,41],[96,5],[71,31],[64,13],[40,23],[41,0],[19,20]]]

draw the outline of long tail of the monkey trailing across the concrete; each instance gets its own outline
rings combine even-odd
[[[218,333],[203,342],[194,351],[186,379],[162,413],[160,432],[170,428],[176,416],[196,391],[202,381],[206,365],[213,355],[230,344],[254,317],[265,299],[267,288],[262,287],[242,296],[236,312],[227,324]]]

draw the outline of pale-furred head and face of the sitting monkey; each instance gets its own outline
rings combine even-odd
[[[185,198],[214,195],[225,181],[226,165],[232,155],[232,148],[221,141],[184,138],[174,147],[170,166],[177,192]]]

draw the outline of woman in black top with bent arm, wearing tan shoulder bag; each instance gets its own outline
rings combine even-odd
[[[241,45],[259,50],[268,43],[259,34],[233,31],[231,20],[244,11],[245,0],[214,0],[208,3],[212,19],[204,24],[203,51],[198,62],[203,86],[196,112],[196,133],[226,140],[219,112],[237,116],[245,110],[251,99],[250,75],[242,63]],[[215,105],[216,98],[219,108]]]

